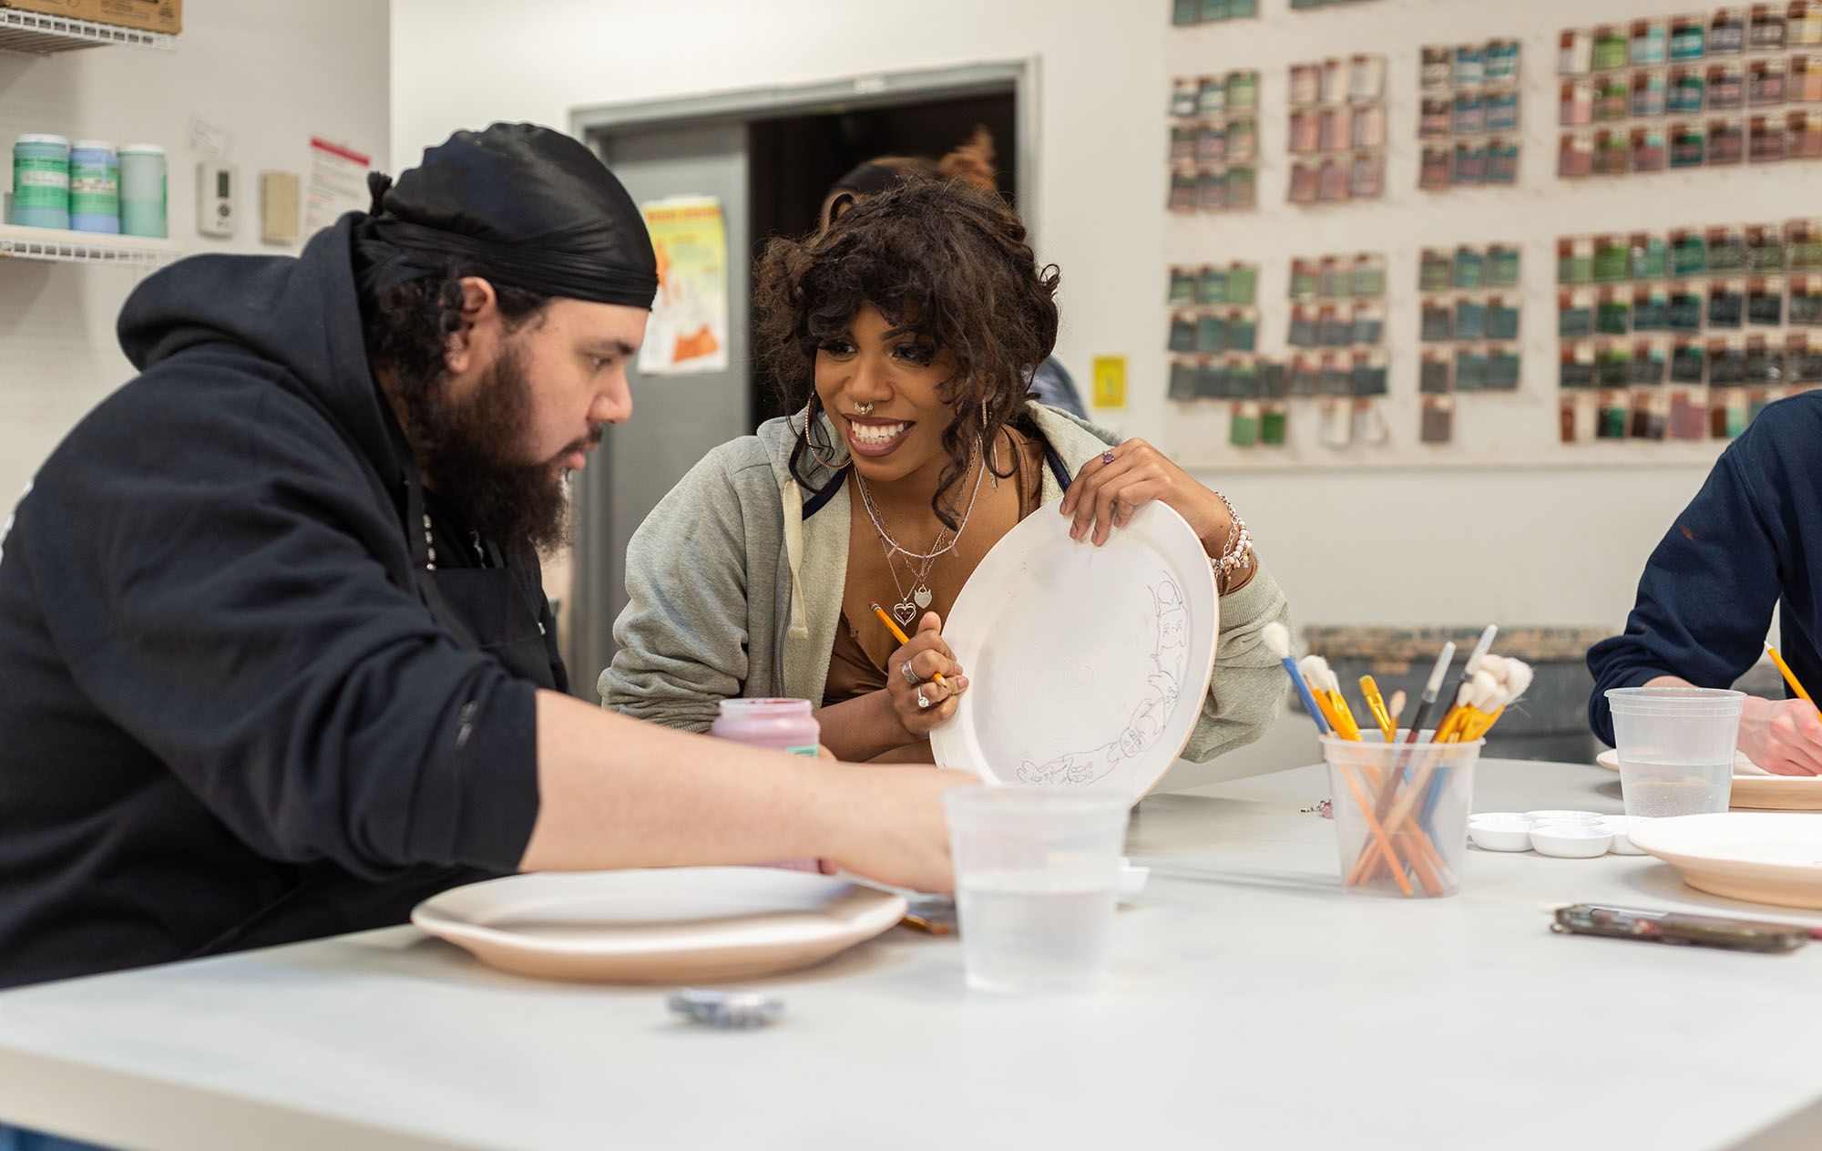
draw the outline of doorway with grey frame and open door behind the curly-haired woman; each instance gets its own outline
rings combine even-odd
[[[878,155],[940,157],[975,126],[993,135],[1000,191],[1033,215],[1033,62],[887,73],[678,100],[612,104],[570,117],[640,204],[709,195],[727,233],[727,366],[685,375],[629,372],[634,417],[609,428],[576,483],[576,546],[554,594],[570,690],[599,699],[614,657],[614,619],[627,603],[632,532],[718,444],[782,413],[751,355],[751,279],[763,242],[816,222],[838,177]],[[1035,231],[1035,228],[1033,228]]]

